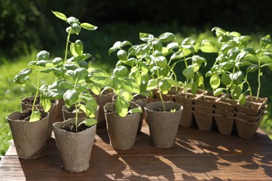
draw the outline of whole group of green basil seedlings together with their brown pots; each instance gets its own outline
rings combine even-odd
[[[140,33],[142,44],[118,41],[109,49],[109,54],[116,52],[119,61],[112,74],[107,74],[89,68],[86,59],[91,54],[84,53],[81,40],[70,41],[70,36],[78,35],[81,29],[93,31],[97,27],[53,13],[68,23],[64,58],[52,59],[49,52],[41,51],[36,61],[31,61],[14,79],[17,84],[29,82],[36,88],[34,97],[24,99],[22,112],[7,116],[22,159],[42,157],[52,129],[62,167],[81,172],[89,168],[96,127],[107,125],[112,147],[126,150],[135,143],[145,119],[152,145],[171,148],[179,125],[190,127],[194,120],[204,131],[211,130],[215,120],[219,132],[225,135],[231,134],[236,125],[239,136],[250,139],[266,113],[267,99],[259,97],[259,90],[261,68],[272,68],[269,36],[260,41],[262,49],[255,50],[248,47],[250,36],[220,28],[213,29],[220,46],[209,40],[198,43],[192,38],[175,42],[173,33],[163,33],[158,38]],[[206,91],[204,86],[199,70],[206,65],[206,59],[197,55],[199,50],[202,54],[218,54],[205,75],[211,77],[213,91]],[[186,67],[180,71],[186,78],[183,82],[174,71],[179,63]],[[33,71],[38,72],[36,82],[29,78]],[[253,97],[248,73],[255,71],[259,88]],[[54,74],[52,84],[40,85],[39,75],[44,73]]]

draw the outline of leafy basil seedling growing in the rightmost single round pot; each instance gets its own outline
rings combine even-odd
[[[174,75],[170,72],[172,70],[166,57],[169,52],[166,47],[163,47],[163,43],[174,40],[175,36],[167,32],[155,38],[149,33],[139,33],[139,38],[144,43],[135,47],[135,56],[144,60],[145,68],[151,77],[146,85],[146,91],[158,89],[160,100],[163,102],[163,111],[165,111],[162,93],[167,94],[172,87],[176,86],[176,81],[172,78]]]

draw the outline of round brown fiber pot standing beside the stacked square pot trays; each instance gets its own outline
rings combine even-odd
[[[171,112],[171,109],[176,111]],[[151,143],[158,148],[171,148],[179,129],[183,107],[176,102],[150,102],[144,108],[149,123]]]

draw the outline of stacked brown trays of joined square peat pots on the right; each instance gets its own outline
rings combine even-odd
[[[179,93],[164,95],[165,100],[172,100],[183,105],[180,125],[191,127],[197,125],[199,130],[209,132],[216,129],[220,134],[238,133],[243,139],[250,139],[267,113],[267,98],[246,97],[245,105],[227,98],[225,94],[214,97],[212,93]]]

